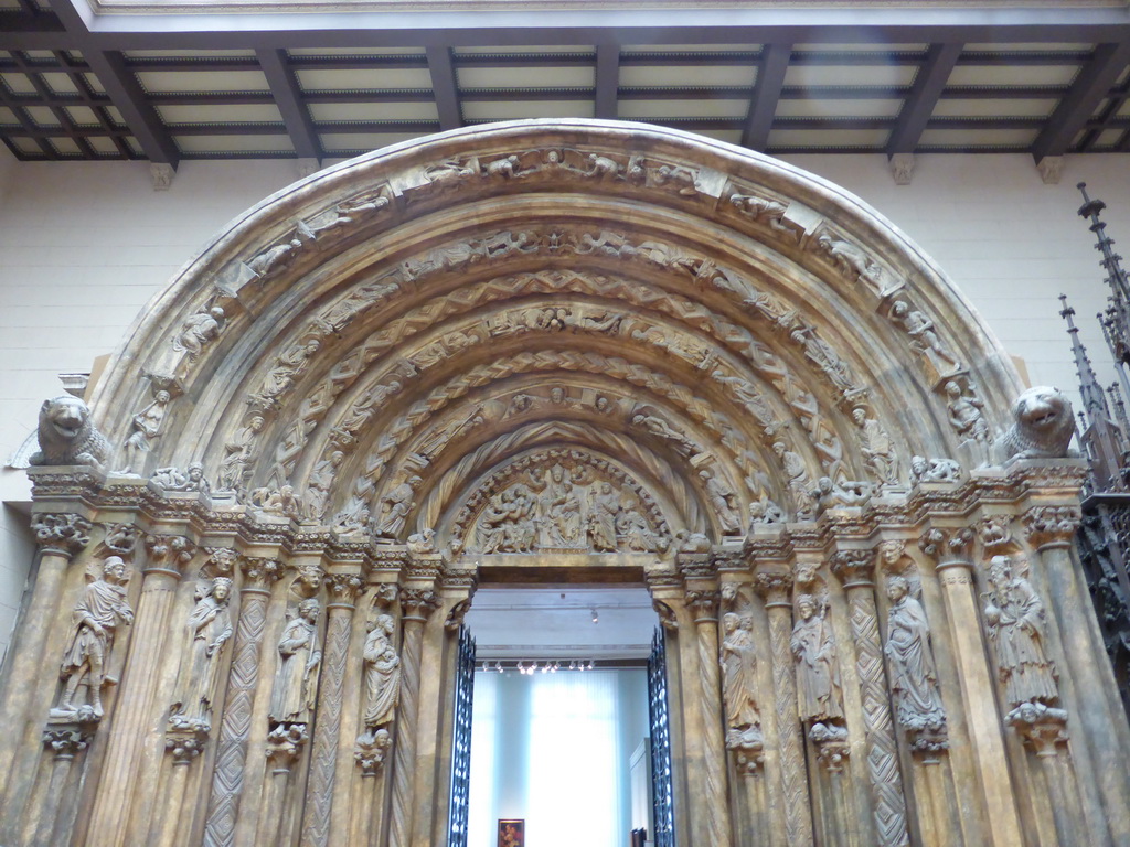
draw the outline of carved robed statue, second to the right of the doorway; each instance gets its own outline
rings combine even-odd
[[[825,610],[811,594],[797,597],[799,618],[792,628],[797,661],[797,701],[801,721],[831,721],[844,716],[840,693],[836,640]]]

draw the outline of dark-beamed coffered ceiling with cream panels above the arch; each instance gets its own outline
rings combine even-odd
[[[572,116],[775,155],[1130,151],[1124,2],[252,6],[0,0],[0,138],[175,166]]]

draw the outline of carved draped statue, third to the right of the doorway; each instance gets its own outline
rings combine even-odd
[[[922,604],[901,576],[887,580],[887,656],[895,714],[905,730],[938,731],[946,711],[938,691],[938,671],[930,647],[930,623]]]

